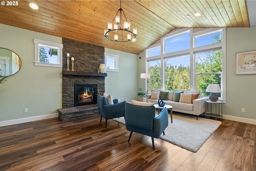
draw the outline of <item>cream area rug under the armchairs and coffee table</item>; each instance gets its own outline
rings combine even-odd
[[[124,117],[113,119],[125,124]],[[160,139],[178,145],[184,149],[196,152],[210,135],[220,126],[221,121],[195,116],[173,113],[173,123],[169,115],[169,124],[165,129],[165,135]]]

